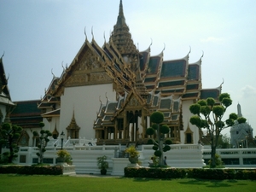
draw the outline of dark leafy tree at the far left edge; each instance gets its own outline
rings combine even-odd
[[[20,133],[23,129],[18,125],[11,125],[10,123],[4,123],[1,126],[2,138],[0,142],[9,147],[9,152],[3,153],[3,159],[8,163],[12,163],[17,158],[19,151],[17,140],[20,137]]]

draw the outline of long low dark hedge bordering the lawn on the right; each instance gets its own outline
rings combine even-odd
[[[125,177],[256,180],[256,169],[125,167]]]

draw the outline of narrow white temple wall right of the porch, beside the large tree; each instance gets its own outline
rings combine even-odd
[[[187,130],[188,125],[191,131],[193,131],[193,142],[197,144],[199,141],[199,129],[195,125],[189,123],[189,119],[193,116],[193,113],[189,111],[190,105],[194,104],[192,100],[183,101],[183,131],[180,131],[181,143],[185,143],[185,134],[184,132]]]

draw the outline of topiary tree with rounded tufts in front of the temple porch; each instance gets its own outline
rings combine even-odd
[[[150,115],[150,121],[153,123],[151,127],[148,127],[146,133],[149,136],[156,135],[157,141],[154,138],[148,140],[149,144],[154,144],[154,155],[159,157],[159,166],[164,166],[163,152],[169,151],[171,149],[170,144],[172,144],[171,139],[165,141],[165,134],[170,131],[168,125],[161,125],[164,121],[164,114],[160,111],[156,111]]]

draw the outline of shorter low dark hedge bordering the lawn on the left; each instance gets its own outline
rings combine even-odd
[[[62,175],[62,166],[0,166],[0,174]]]

